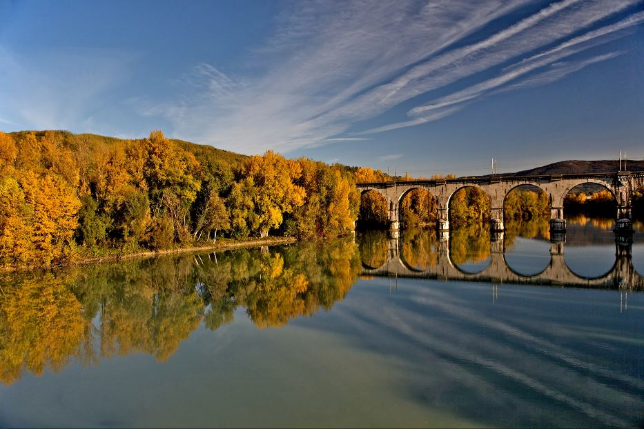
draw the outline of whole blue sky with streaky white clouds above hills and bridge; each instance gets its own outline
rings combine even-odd
[[[0,130],[412,177],[644,159],[644,1],[0,0]]]

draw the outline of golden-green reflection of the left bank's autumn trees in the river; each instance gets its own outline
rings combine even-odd
[[[201,321],[215,330],[238,307],[259,328],[330,309],[361,270],[351,240],[103,263],[0,279],[0,377],[41,375],[70,359],[144,352],[168,359]]]

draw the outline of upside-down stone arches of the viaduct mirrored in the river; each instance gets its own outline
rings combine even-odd
[[[541,286],[574,286],[580,288],[609,288],[621,290],[644,290],[644,277],[633,267],[630,241],[616,241],[615,263],[609,272],[600,277],[583,277],[574,273],[565,263],[563,241],[550,243],[550,263],[536,275],[522,275],[510,268],[505,261],[502,233],[490,242],[490,261],[480,272],[465,272],[453,263],[449,253],[449,241],[437,243],[437,261],[426,268],[410,266],[400,249],[400,239],[390,238],[387,260],[380,267],[362,264],[362,275],[373,277],[409,277],[440,281],[480,281],[485,283],[523,283]]]

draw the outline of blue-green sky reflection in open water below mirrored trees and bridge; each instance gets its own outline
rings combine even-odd
[[[26,375],[2,426],[634,426],[644,294],[377,279],[280,329],[244,310],[166,363]],[[38,412],[34,412],[38,410]],[[520,410],[520,412],[517,412]],[[624,410],[628,410],[625,412]]]

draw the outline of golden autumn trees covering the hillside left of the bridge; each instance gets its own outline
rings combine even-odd
[[[347,234],[360,206],[353,176],[344,166],[271,151],[248,157],[158,130],[134,140],[0,132],[0,267],[192,247],[217,232]]]

